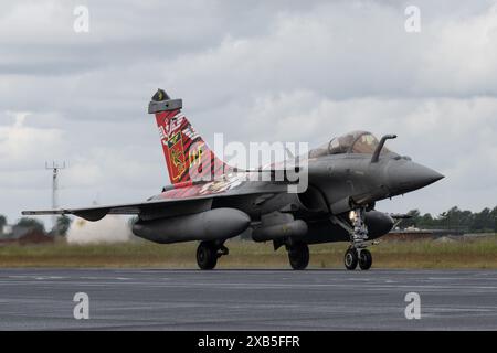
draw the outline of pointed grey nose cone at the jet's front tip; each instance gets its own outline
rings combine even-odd
[[[388,170],[389,189],[395,194],[424,188],[442,178],[433,169],[411,161],[391,164]]]

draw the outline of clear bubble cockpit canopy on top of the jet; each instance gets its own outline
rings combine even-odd
[[[368,131],[353,131],[331,139],[328,143],[310,150],[309,158],[327,154],[363,153],[372,154],[379,145],[378,139]],[[383,147],[381,154],[390,150]]]

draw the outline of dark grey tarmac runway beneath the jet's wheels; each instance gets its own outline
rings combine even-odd
[[[81,329],[496,330],[497,271],[0,269],[0,330]]]

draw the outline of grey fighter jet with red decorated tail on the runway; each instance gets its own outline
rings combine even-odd
[[[398,154],[367,131],[332,138],[306,153],[304,169],[244,170],[219,159],[181,113],[182,100],[159,89],[149,103],[154,114],[170,185],[145,202],[24,211],[23,215],[72,214],[98,221],[107,214],[136,215],[133,233],[141,238],[170,244],[200,242],[197,263],[213,269],[229,254],[225,240],[245,231],[255,242],[285,247],[293,269],[309,263],[309,244],[349,242],[343,263],[348,270],[371,267],[368,247],[389,233],[394,220],[374,210],[377,201],[401,195],[444,178],[438,172]],[[286,171],[306,172],[307,188],[290,192],[298,180]],[[283,169],[283,178],[276,179]],[[247,173],[269,178],[247,179]],[[292,180],[290,180],[292,179]]]

